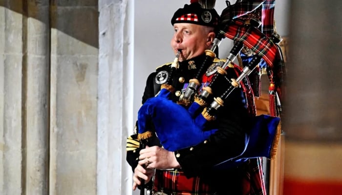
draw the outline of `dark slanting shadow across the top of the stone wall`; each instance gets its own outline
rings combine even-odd
[[[70,37],[99,48],[98,0],[1,0],[0,6],[22,14],[24,17],[48,22],[50,28],[55,28]],[[46,10],[49,10],[48,16],[44,16],[47,13]]]

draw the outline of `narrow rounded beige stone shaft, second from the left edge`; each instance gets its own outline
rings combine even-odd
[[[49,0],[24,6],[23,112],[26,138],[25,193],[48,194],[49,152]],[[27,17],[26,17],[27,16]],[[19,42],[19,41],[18,41]]]

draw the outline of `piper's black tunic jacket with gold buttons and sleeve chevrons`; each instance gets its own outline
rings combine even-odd
[[[196,58],[182,61],[179,63],[178,71],[173,78],[173,86],[175,92],[182,91],[184,84],[189,82],[198,72],[199,66],[205,55]],[[165,64],[156,69],[156,72],[150,74],[147,79],[142,103],[148,98],[154,97],[160,90],[160,84],[157,84],[163,78],[161,71],[169,71],[170,64]],[[208,67],[205,67],[207,70]],[[159,74],[158,74],[159,73]],[[234,68],[227,69],[227,78],[237,78]],[[179,78],[184,78],[185,82],[181,83]],[[228,79],[221,79],[219,84],[213,87],[214,96],[219,97],[228,87],[230,83]],[[177,94],[177,93],[174,93]],[[179,94],[179,93],[178,93]],[[178,100],[179,97],[173,95],[173,100]],[[211,102],[209,102],[211,103]],[[175,151],[175,156],[179,162],[182,170],[187,177],[203,176],[213,173],[211,170],[214,165],[240,155],[245,148],[246,135],[248,134],[249,122],[248,111],[246,106],[246,98],[241,88],[235,88],[230,96],[224,100],[224,106],[218,109],[216,119],[208,123],[209,127],[218,129],[216,133],[209,137],[208,140],[199,143],[196,146]],[[186,131],[187,127],[184,127]],[[136,132],[135,132],[136,134]],[[130,139],[136,138],[132,135]],[[150,144],[158,145],[159,142],[156,137],[150,140]],[[132,170],[137,165],[137,157],[139,156],[139,149],[127,152],[127,161],[132,166]]]

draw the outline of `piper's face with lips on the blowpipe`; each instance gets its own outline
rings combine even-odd
[[[210,49],[214,40],[214,32],[208,32],[206,27],[191,23],[175,23],[171,47],[174,54],[182,50],[179,61],[192,59]]]

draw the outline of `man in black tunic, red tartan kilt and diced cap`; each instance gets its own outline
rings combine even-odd
[[[192,79],[206,58],[205,50],[212,46],[215,38],[219,15],[214,9],[203,9],[198,3],[184,5],[171,19],[174,35],[171,47],[179,56],[179,68],[174,75],[172,85],[175,93],[172,100],[177,101],[181,92]],[[220,63],[215,59],[213,65]],[[170,64],[165,64],[151,73],[142,103],[152,98],[160,90],[160,84],[167,78]],[[205,70],[209,66],[204,67]],[[227,70],[229,78],[236,78],[235,68]],[[202,78],[202,86],[210,82],[212,71],[207,71]],[[228,84],[215,88],[215,96],[222,94]],[[250,162],[234,168],[216,168],[217,164],[240,155],[245,148],[248,134],[248,108],[242,89],[237,88],[225,100],[225,105],[218,111],[216,119],[208,122],[208,127],[218,131],[196,146],[167,151],[160,147],[157,137],[149,140],[150,147],[139,149],[136,132],[128,138],[127,161],[132,166],[133,190],[140,186],[141,179],[152,185],[155,194],[167,195],[242,195],[262,194],[263,185],[253,188],[248,172]],[[184,127],[184,131],[187,127]],[[133,146],[135,145],[135,146]],[[151,180],[154,176],[154,181]],[[262,176],[260,176],[262,177]],[[253,189],[252,189],[253,188]]]

